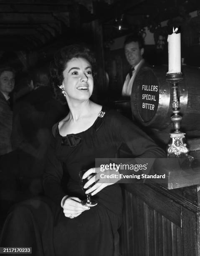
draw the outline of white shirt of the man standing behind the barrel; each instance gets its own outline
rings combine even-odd
[[[131,96],[134,79],[137,75],[137,71],[139,70],[139,67],[143,64],[143,62],[144,62],[144,59],[141,59],[141,61],[139,61],[139,63],[134,67],[131,79],[129,74],[127,74],[123,88],[122,88],[122,96]]]

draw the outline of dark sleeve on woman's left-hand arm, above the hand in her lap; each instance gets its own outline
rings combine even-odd
[[[53,201],[61,205],[61,200],[66,195],[61,186],[63,166],[56,157],[55,138],[52,136],[51,144],[47,151],[45,172],[43,175],[43,187],[45,194]]]

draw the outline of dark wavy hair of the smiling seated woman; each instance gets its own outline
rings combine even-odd
[[[62,48],[54,55],[54,61],[51,62],[50,74],[51,74],[51,86],[56,100],[66,104],[66,98],[58,87],[63,83],[63,71],[66,69],[68,61],[73,58],[83,58],[89,61],[92,67],[93,77],[95,76],[96,60],[93,53],[89,48],[79,44],[73,44]]]

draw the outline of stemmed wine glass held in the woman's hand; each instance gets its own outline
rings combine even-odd
[[[84,185],[86,184],[86,182],[88,182],[92,177],[95,176],[95,173],[92,173],[92,174],[90,174],[88,177],[86,177],[85,179],[83,179],[83,175],[84,175],[85,172],[87,172],[87,170],[81,170],[81,171],[78,173],[78,175],[79,175],[79,184],[80,184],[80,186],[81,186],[81,189],[82,189],[84,192],[86,192],[87,189],[91,188],[91,187],[94,185],[94,183],[93,183],[93,184],[91,184],[89,187],[87,187],[86,189],[84,189]],[[87,196],[87,199],[82,200],[82,201],[81,201],[81,205],[89,206],[89,207],[92,207],[92,206],[97,205],[96,200],[92,200],[92,199],[91,199],[91,193],[86,194],[86,196]]]

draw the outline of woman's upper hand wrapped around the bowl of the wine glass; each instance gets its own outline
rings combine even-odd
[[[92,177],[91,179],[89,179],[88,182],[86,182],[86,184],[84,185],[84,189],[86,189],[93,183],[95,183],[95,184],[91,188],[86,190],[86,194],[91,193],[91,195],[95,195],[96,193],[101,191],[101,189],[103,189],[104,187],[115,184],[117,181],[120,180],[119,172],[116,172],[116,170],[109,169],[109,170],[105,170],[104,172],[101,172],[100,167],[99,168],[91,168],[91,169],[87,170],[87,172],[85,172],[83,175],[83,179],[85,179],[92,173],[96,173],[96,175],[94,177]],[[111,176],[111,174],[113,174],[113,175]]]

